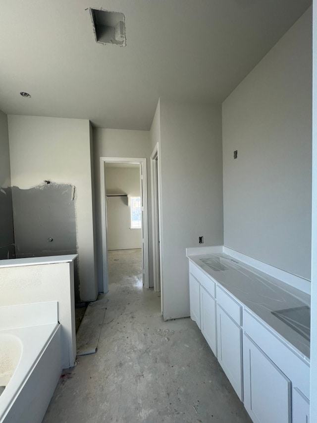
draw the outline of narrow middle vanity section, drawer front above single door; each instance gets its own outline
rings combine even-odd
[[[217,298],[217,357],[238,397],[243,401],[242,307],[219,286]]]

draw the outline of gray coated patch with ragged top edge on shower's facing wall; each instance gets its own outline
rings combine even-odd
[[[76,254],[75,187],[45,183],[12,187],[16,257]],[[80,301],[75,263],[75,301]]]

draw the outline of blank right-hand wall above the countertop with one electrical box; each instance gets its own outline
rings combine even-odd
[[[307,279],[311,19],[309,9],[222,105],[224,244]]]

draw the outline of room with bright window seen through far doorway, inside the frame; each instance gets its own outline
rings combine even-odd
[[[140,165],[105,163],[108,283],[123,272],[142,287],[142,211]]]

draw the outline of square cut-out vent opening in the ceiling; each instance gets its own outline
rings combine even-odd
[[[103,9],[89,10],[96,42],[124,47],[126,45],[124,14]]]

